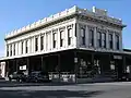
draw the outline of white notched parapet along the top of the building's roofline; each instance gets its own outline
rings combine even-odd
[[[24,32],[37,28],[37,27],[39,27],[41,25],[51,23],[51,22],[53,22],[56,20],[69,16],[69,15],[74,14],[74,13],[91,16],[91,17],[94,17],[94,19],[97,19],[97,20],[107,21],[107,22],[110,22],[110,23],[122,26],[122,21],[118,20],[118,19],[115,19],[115,17],[108,16],[106,10],[100,10],[100,9],[96,9],[95,7],[93,7],[93,11],[88,11],[86,9],[80,9],[76,5],[74,5],[74,7],[70,8],[70,9],[66,9],[64,11],[62,11],[60,13],[50,15],[49,17],[45,17],[43,20],[38,20],[37,22],[34,22],[33,24],[29,24],[27,26],[24,26],[22,28],[16,29],[16,30],[12,30],[8,35],[5,35],[5,39],[11,38],[11,37],[13,37],[15,35],[22,34]]]

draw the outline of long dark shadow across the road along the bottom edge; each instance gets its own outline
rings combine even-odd
[[[0,90],[0,98],[88,98],[104,91],[72,91],[72,90]]]

